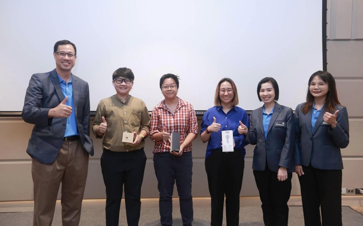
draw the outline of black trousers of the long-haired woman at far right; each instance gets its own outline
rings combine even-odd
[[[342,225],[342,170],[302,166],[299,177],[304,221],[307,226]],[[320,211],[321,207],[321,218]]]

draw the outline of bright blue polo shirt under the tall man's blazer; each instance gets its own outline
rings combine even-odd
[[[58,75],[58,74],[57,74]],[[66,83],[59,75],[59,82],[61,83],[63,98],[65,96],[68,96],[66,105],[72,107],[72,114],[67,118],[67,125],[66,125],[66,131],[64,133],[64,136],[79,136],[78,128],[77,128],[77,121],[76,121],[76,114],[74,113],[74,99],[73,99],[73,86],[72,86],[72,75],[70,75],[69,82]]]

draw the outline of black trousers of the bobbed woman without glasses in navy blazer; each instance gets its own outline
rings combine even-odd
[[[277,172],[272,172],[266,163],[265,171],[253,170],[253,175],[260,193],[265,225],[287,226],[289,219],[287,201],[291,193],[292,173],[287,173],[287,180],[278,181]]]

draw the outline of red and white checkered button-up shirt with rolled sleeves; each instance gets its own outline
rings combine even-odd
[[[180,144],[184,142],[185,137],[189,133],[195,133],[198,135],[198,124],[195,111],[192,104],[180,99],[174,115],[167,108],[165,100],[158,103],[151,113],[151,127],[150,127],[150,138],[155,142],[154,151],[157,152],[170,152],[170,141],[156,141],[152,139],[154,133],[162,132],[165,126],[169,133],[179,132],[180,133]],[[192,144],[187,145],[184,152],[192,151]]]

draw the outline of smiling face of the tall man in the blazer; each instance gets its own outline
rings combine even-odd
[[[60,53],[72,53],[75,54],[74,48],[70,44],[58,45],[57,52]],[[77,56],[69,58],[66,54],[64,57],[59,54],[53,53],[54,59],[56,60],[56,69],[58,72],[70,72],[76,64]]]

